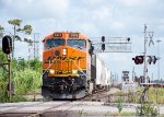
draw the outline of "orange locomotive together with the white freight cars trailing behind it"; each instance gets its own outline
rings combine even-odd
[[[46,36],[43,43],[44,97],[81,98],[96,90],[97,85],[109,85],[108,69],[93,54],[92,43],[84,35],[56,32]]]

